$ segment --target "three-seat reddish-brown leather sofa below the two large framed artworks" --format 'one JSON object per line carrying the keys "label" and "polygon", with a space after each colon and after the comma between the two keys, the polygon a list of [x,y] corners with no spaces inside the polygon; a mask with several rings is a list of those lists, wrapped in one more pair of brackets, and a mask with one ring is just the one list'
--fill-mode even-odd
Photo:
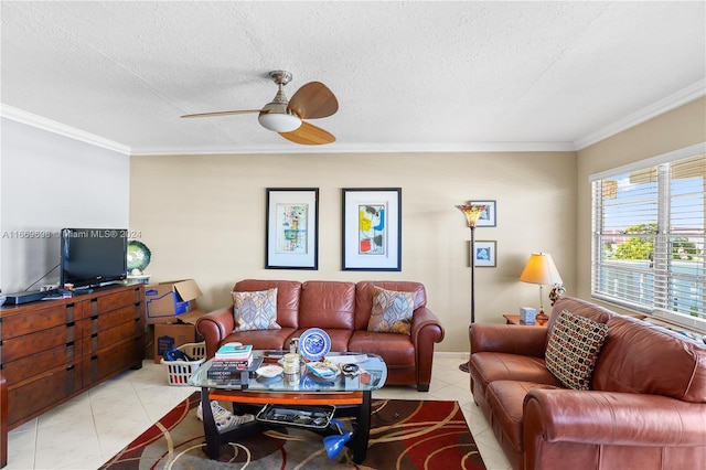
{"label": "three-seat reddish-brown leather sofa below the two large framed artworks", "polygon": [[[374,286],[387,290],[414,292],[411,334],[367,331],[373,307]],[[239,341],[261,350],[288,350],[289,341],[308,328],[321,328],[331,338],[332,351],[377,354],[387,364],[387,384],[416,385],[427,392],[431,382],[434,344],[443,340],[443,328],[426,307],[424,285],[408,281],[293,281],[246,279],[234,291],[277,288],[279,330],[234,332],[233,306],[210,312],[196,322],[196,331],[206,342],[212,357],[225,342]]]}

